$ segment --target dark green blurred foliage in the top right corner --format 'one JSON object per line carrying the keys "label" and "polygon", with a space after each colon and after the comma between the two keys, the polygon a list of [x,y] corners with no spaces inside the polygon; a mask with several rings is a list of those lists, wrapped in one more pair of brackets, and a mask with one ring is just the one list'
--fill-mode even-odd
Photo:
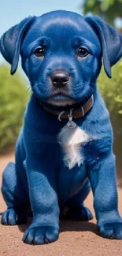
{"label": "dark green blurred foliage in the top right corner", "polygon": [[81,6],[83,14],[97,14],[112,25],[116,17],[122,17],[122,0],[85,0]]}

